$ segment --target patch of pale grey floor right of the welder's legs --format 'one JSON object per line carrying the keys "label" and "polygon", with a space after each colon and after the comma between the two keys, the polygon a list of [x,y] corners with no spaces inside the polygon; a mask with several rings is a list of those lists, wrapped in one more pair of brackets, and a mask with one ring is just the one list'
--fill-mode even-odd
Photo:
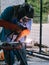
{"label": "patch of pale grey floor right of the welder's legs", "polygon": [[29,58],[28,65],[49,65],[49,61],[37,57]]}

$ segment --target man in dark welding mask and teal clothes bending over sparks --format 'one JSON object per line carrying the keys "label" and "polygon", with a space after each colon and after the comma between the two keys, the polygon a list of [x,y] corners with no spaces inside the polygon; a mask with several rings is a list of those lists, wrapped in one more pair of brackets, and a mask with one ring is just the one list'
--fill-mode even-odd
{"label": "man in dark welding mask and teal clothes bending over sparks", "polygon": [[[2,36],[1,41],[2,42],[21,42],[23,45],[23,48],[20,50],[11,50],[10,51],[10,65],[14,64],[14,55],[16,55],[18,61],[20,61],[20,65],[28,65],[27,59],[26,59],[26,51],[24,48],[24,40],[26,39],[27,34],[30,33],[31,29],[31,18],[33,18],[34,9],[31,5],[24,3],[19,6],[10,6],[7,7],[4,12],[1,14],[1,19],[5,21],[10,21],[13,24],[18,24],[20,27],[22,26],[26,30],[20,32],[20,33],[11,33],[11,31],[7,30],[5,28],[2,29]],[[22,59],[20,58],[20,53],[22,55],[22,58],[24,59],[22,62]],[[8,51],[4,50],[4,56],[5,56],[5,62],[7,65],[9,65],[9,55]]]}

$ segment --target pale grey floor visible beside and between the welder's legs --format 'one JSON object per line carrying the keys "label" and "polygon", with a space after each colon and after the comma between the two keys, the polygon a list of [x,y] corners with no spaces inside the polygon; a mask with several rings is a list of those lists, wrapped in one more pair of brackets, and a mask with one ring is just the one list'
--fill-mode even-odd
{"label": "pale grey floor visible beside and between the welder's legs", "polygon": [[[49,61],[37,57],[27,56],[28,65],[49,65]],[[0,65],[5,65],[5,62],[0,62]],[[19,65],[16,61],[14,65]]]}

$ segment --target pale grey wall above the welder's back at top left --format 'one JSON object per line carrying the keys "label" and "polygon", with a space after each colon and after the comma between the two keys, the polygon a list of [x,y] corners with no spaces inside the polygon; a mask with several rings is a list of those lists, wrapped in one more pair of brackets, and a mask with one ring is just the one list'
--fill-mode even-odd
{"label": "pale grey wall above the welder's back at top left", "polygon": [[1,12],[8,6],[19,5],[24,2],[25,0],[1,0]]}

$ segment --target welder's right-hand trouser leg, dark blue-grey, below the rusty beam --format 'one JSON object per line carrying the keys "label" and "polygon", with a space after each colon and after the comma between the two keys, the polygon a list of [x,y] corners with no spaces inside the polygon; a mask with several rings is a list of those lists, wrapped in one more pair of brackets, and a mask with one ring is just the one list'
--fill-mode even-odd
{"label": "welder's right-hand trouser leg, dark blue-grey, below the rusty beam", "polygon": [[20,50],[14,50],[14,54],[16,55],[18,61],[20,60],[20,65],[28,65],[26,58],[26,50],[22,47]]}

